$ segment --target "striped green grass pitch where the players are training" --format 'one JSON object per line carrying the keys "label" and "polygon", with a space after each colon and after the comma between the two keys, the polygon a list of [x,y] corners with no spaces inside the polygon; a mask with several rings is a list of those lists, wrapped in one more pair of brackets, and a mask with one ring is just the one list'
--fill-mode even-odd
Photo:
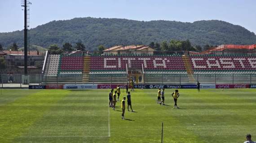
{"label": "striped green grass pitch where the players are training", "polygon": [[[0,95],[0,143],[243,143],[256,140],[256,90],[181,89],[172,109],[156,104],[157,89],[132,92],[135,113],[121,119],[108,107],[109,90],[4,89]],[[121,97],[125,94],[121,93]]]}

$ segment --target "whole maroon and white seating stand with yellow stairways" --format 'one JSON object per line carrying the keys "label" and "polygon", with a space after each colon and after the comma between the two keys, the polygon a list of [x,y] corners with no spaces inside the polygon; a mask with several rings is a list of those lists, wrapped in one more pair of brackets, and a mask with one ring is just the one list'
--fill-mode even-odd
{"label": "whole maroon and white seating stand with yellow stairways", "polygon": [[[147,83],[163,79],[195,83],[199,76],[207,83],[212,74],[256,74],[255,55],[49,55],[48,59],[44,75],[52,80],[56,76],[63,83],[125,83],[131,76],[129,71],[143,72]],[[231,76],[234,79],[237,75]]]}

